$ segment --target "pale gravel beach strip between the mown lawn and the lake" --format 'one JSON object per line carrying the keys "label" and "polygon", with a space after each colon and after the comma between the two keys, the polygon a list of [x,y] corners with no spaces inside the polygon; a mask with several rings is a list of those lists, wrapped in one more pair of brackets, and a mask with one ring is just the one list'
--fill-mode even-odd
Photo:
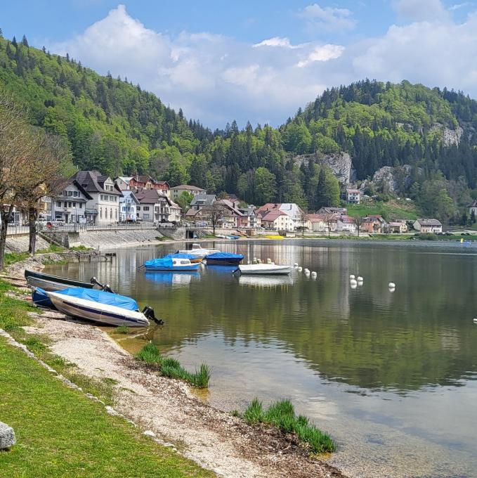
{"label": "pale gravel beach strip between the mown lawn and the lake", "polygon": [[[14,285],[25,283],[25,266],[36,264],[43,269],[42,259],[12,264],[7,273],[17,277]],[[247,425],[203,403],[188,385],[161,377],[154,368],[135,361],[97,325],[68,321],[58,313],[30,315],[37,323],[25,327],[27,333],[46,337],[51,351],[74,363],[79,373],[115,380],[115,409],[202,467],[230,478],[345,477],[332,465],[309,456],[293,437],[271,427]]]}

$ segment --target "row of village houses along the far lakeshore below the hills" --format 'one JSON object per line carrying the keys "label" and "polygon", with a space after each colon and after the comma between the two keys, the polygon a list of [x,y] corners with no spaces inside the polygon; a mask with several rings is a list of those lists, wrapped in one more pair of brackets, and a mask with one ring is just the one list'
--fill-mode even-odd
{"label": "row of village houses along the far lakeshore below the hills", "polygon": [[[60,181],[60,180],[59,180]],[[72,224],[113,226],[148,224],[150,226],[193,226],[246,230],[247,235],[275,231],[285,236],[370,235],[405,233],[443,233],[437,219],[393,219],[380,214],[362,217],[348,215],[343,207],[321,207],[303,211],[295,203],[247,205],[236,195],[209,194],[198,186],[170,186],[151,176],[110,178],[96,171],[79,171],[61,180],[60,192],[39,201],[39,226],[65,228]],[[358,189],[346,189],[342,202],[360,204]],[[15,205],[9,226],[27,226],[27,212]]]}

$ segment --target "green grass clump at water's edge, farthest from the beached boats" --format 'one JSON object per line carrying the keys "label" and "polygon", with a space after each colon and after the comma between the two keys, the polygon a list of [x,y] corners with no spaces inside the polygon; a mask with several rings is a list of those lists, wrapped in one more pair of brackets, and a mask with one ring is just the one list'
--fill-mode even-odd
{"label": "green grass clump at water's edge, farthest from the beached boats", "polygon": [[266,410],[255,398],[242,415],[250,424],[266,423],[287,434],[296,434],[300,441],[313,453],[327,453],[336,450],[336,444],[329,434],[311,425],[304,415],[295,415],[295,409],[288,399],[275,401]]}

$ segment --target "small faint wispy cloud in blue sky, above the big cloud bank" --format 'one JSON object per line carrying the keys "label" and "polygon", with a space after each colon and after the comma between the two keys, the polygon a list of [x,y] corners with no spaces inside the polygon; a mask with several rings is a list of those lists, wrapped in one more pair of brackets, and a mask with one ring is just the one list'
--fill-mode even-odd
{"label": "small faint wispy cloud in blue sky, above the big cloud bank", "polygon": [[308,5],[299,13],[313,30],[339,31],[353,30],[356,20],[348,8],[322,7],[318,4]]}

